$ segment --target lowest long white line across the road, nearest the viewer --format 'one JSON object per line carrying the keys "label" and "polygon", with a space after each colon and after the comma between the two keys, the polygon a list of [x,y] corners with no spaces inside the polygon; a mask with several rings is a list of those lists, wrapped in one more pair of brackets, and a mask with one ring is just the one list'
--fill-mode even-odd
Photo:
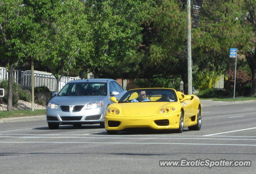
{"label": "lowest long white line across the road, nearest the viewer", "polygon": [[62,144],[183,144],[183,145],[213,145],[213,146],[256,146],[256,144],[206,144],[206,143],[175,143],[175,142],[47,142],[47,141],[1,141],[0,143],[62,143]]}

